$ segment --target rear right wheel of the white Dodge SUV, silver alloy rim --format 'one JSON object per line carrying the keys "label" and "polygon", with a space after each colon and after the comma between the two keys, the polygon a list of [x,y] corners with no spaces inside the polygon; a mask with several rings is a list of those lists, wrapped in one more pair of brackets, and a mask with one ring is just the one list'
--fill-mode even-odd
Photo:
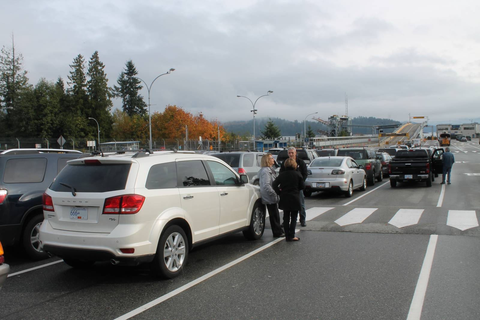
{"label": "rear right wheel of the white Dodge SUV, silver alloy rim", "polygon": [[162,278],[175,278],[183,272],[188,259],[188,238],[178,225],[170,225],[160,236],[152,271]]}

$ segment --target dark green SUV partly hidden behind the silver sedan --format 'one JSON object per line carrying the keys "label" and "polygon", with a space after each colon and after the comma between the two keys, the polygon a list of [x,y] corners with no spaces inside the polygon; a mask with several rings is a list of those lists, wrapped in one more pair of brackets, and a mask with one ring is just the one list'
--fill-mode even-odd
{"label": "dark green SUV partly hidden behind the silver sedan", "polygon": [[367,182],[371,186],[375,184],[375,179],[379,182],[383,180],[382,163],[377,159],[375,149],[372,147],[342,148],[336,155],[352,157],[357,164],[363,166],[362,169],[367,174]]}

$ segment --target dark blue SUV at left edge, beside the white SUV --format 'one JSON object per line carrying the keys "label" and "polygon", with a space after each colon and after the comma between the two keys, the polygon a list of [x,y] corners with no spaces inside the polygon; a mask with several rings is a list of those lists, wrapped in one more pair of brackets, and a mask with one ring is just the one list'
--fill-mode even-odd
{"label": "dark blue SUV at left edge, beside the white SUV", "polygon": [[68,160],[83,154],[51,150],[17,149],[0,154],[0,242],[4,246],[20,244],[34,260],[47,258],[38,241],[42,194]]}

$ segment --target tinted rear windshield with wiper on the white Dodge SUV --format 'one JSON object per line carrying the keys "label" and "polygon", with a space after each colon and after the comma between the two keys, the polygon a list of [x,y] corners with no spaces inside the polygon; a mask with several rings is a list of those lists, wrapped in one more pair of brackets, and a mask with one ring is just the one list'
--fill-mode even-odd
{"label": "tinted rear windshield with wiper on the white Dodge SUV", "polygon": [[50,186],[53,191],[71,192],[60,182],[77,192],[108,192],[125,189],[131,164],[103,164],[98,166],[67,165]]}

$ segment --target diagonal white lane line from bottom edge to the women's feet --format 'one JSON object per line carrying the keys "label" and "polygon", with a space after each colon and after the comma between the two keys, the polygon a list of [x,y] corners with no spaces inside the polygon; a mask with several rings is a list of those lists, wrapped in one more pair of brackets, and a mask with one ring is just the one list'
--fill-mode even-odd
{"label": "diagonal white lane line from bottom edge to the women's feet", "polygon": [[226,265],[224,265],[224,266],[222,266],[222,267],[220,267],[220,268],[218,268],[218,269],[215,269],[215,270],[212,271],[212,272],[209,272],[209,273],[207,273],[207,274],[204,274],[203,276],[201,276],[200,278],[197,278],[197,279],[193,280],[192,282],[189,282],[188,284],[182,285],[180,288],[175,289],[175,290],[169,292],[168,294],[165,294],[165,295],[163,295],[163,296],[160,296],[160,297],[156,298],[155,300],[152,300],[152,301],[144,304],[144,305],[141,306],[141,307],[138,307],[138,308],[136,308],[136,309],[134,309],[134,310],[132,310],[132,311],[130,311],[130,312],[128,312],[128,313],[125,313],[123,316],[120,316],[120,317],[116,318],[115,320],[126,320],[126,319],[130,319],[131,317],[133,317],[133,316],[135,316],[135,315],[137,315],[137,314],[139,314],[139,313],[141,313],[141,312],[143,312],[143,311],[145,311],[145,310],[147,310],[147,309],[149,309],[149,308],[155,307],[157,304],[159,304],[159,303],[161,303],[161,302],[163,302],[163,301],[165,301],[165,300],[167,300],[167,299],[169,299],[169,298],[171,298],[171,297],[173,297],[173,296],[178,295],[179,293],[181,293],[181,292],[183,292],[183,291],[191,288],[192,286],[201,283],[202,281],[204,281],[204,280],[206,280],[206,279],[208,279],[208,278],[216,275],[217,273],[220,273],[220,272],[222,272],[222,271],[230,268],[231,266],[233,266],[233,265],[235,265],[235,264],[237,264],[237,263],[239,263],[239,262],[241,262],[241,261],[243,261],[243,260],[245,260],[245,259],[247,259],[247,258],[252,257],[253,255],[259,253],[260,251],[262,251],[262,250],[264,250],[264,249],[267,249],[268,247],[270,247],[270,246],[272,246],[272,245],[274,245],[274,244],[276,244],[277,242],[282,241],[282,240],[285,240],[285,238],[275,239],[275,240],[273,240],[272,242],[269,242],[269,243],[267,243],[266,245],[264,245],[264,246],[262,246],[262,247],[260,247],[260,248],[258,248],[258,249],[255,249],[255,250],[253,250],[253,251],[250,252],[250,253],[247,253],[246,255],[240,257],[240,258],[237,259],[237,260],[231,261],[231,262],[227,263]]}

